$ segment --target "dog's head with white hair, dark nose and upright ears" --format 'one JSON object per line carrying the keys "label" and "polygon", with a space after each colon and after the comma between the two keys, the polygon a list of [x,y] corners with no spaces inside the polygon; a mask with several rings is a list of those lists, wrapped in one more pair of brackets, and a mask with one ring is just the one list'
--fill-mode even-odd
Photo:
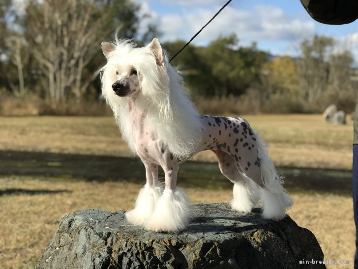
{"label": "dog's head with white hair, dark nose and upright ears", "polygon": [[102,86],[107,87],[103,87],[106,98],[110,95],[137,97],[141,92],[146,94],[143,84],[161,80],[158,68],[164,67],[163,51],[157,38],[143,48],[136,48],[130,40],[102,42],[101,47],[108,59],[102,73],[102,84],[105,84]]}

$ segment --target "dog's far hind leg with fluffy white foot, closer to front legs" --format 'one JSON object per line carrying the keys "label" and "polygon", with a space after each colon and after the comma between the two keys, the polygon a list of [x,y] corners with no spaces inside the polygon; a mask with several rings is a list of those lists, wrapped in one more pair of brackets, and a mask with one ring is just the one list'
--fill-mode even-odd
{"label": "dog's far hind leg with fluffy white foot, closer to front legs", "polygon": [[250,212],[252,206],[259,200],[257,185],[238,169],[238,164],[228,153],[213,150],[219,160],[219,168],[231,182],[234,183],[234,199],[231,207],[240,212]]}

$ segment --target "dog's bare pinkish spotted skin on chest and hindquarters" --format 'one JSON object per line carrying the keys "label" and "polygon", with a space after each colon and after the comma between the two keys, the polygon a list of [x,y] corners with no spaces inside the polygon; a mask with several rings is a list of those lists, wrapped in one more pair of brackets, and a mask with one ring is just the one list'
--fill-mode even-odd
{"label": "dog's bare pinkish spotted skin on chest and hindquarters", "polygon": [[[149,184],[157,185],[158,166],[165,172],[166,187],[175,189],[179,163],[178,160],[155,134],[150,126],[145,126],[145,111],[139,111],[133,105],[135,99],[129,101],[132,116],[133,136],[136,150],[145,164]],[[203,136],[194,154],[213,151],[218,160],[221,172],[233,183],[241,180],[241,170],[258,185],[262,185],[260,160],[257,151],[255,133],[247,121],[240,117],[217,117],[202,115]],[[194,155],[193,154],[193,155]]]}

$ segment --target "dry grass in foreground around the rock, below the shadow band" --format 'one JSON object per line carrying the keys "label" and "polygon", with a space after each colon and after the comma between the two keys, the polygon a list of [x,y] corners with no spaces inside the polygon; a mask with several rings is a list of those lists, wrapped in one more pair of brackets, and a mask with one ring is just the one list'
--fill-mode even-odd
{"label": "dry grass in foreground around the rock, below the shadow band", "polygon": [[[123,182],[1,178],[1,268],[33,268],[55,233],[62,215],[85,208],[128,210],[133,207],[140,188],[141,185]],[[186,191],[193,203],[229,202],[232,199],[229,190]],[[316,235],[325,259],[348,260],[351,265],[339,268],[352,268],[355,229],[351,199],[318,194],[293,194],[292,197],[295,205],[288,210],[288,214],[299,226]]]}

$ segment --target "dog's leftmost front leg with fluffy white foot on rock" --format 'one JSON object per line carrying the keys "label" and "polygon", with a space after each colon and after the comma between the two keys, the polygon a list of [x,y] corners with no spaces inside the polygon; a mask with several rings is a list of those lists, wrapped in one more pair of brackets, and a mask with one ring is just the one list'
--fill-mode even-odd
{"label": "dog's leftmost front leg with fluffy white foot on rock", "polygon": [[158,186],[158,166],[152,163],[144,165],[147,183],[139,191],[134,209],[125,213],[127,220],[134,225],[143,225],[148,221],[162,193]]}

